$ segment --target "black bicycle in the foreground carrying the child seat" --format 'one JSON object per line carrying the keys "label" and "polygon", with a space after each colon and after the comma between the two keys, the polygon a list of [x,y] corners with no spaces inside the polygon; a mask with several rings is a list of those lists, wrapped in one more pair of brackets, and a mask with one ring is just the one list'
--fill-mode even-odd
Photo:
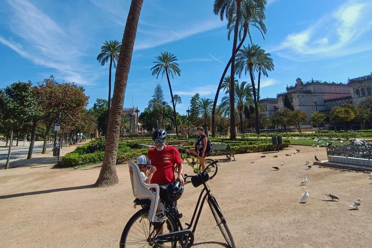
{"label": "black bicycle in the foreground carrying the child seat", "polygon": [[[217,161],[214,161],[213,163],[216,164]],[[207,168],[210,166],[212,166],[212,164],[209,164]],[[134,207],[136,208],[137,205],[140,205],[142,209],[135,213],[126,223],[120,239],[120,248],[191,247],[194,243],[195,229],[205,200],[208,202],[212,214],[215,217],[217,226],[225,238],[229,248],[235,248],[233,236],[227,226],[226,219],[218,206],[216,198],[212,195],[211,190],[206,183],[209,180],[208,173],[206,172],[207,168],[202,172],[198,172],[198,175],[196,176],[189,176],[191,177],[191,182],[194,187],[203,185],[204,188],[200,193],[190,224],[185,223],[187,226],[186,229],[182,227],[180,221],[182,214],[178,212],[177,201],[170,202],[167,198],[162,199],[168,219],[164,222],[151,222],[147,218],[151,201],[148,199],[136,199],[134,200]],[[195,224],[193,225],[194,220]],[[160,230],[162,231],[162,234],[159,233]]]}

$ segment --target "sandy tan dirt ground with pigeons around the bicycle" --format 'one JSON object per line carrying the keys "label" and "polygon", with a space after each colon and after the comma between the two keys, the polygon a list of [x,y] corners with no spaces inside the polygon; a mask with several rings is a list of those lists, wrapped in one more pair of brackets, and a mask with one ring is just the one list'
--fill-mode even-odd
{"label": "sandy tan dirt ground with pigeons around the bicycle", "polygon": [[[295,149],[302,151],[294,154]],[[62,149],[62,154],[68,150]],[[325,148],[292,146],[279,153],[235,155],[237,161],[221,163],[208,184],[236,247],[370,247],[372,180],[362,172],[308,169],[305,161],[312,164],[314,155],[325,160]],[[118,185],[94,188],[99,164],[52,169],[50,153],[35,157],[0,171],[0,247],[119,247],[126,222],[139,209],[133,208],[128,166],[116,167]],[[186,173],[192,174],[184,165]],[[308,185],[300,186],[305,176]],[[178,201],[183,222],[190,221],[201,189],[186,184]],[[305,190],[310,198],[301,204]],[[325,193],[338,196],[340,202],[330,201]],[[358,198],[359,210],[350,210],[350,203]],[[224,243],[205,205],[193,247],[226,247]]]}

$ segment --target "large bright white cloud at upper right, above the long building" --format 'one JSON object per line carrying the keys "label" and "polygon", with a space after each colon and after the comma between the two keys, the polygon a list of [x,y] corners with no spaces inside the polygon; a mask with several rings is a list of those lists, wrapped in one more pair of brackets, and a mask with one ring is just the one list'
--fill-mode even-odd
{"label": "large bright white cloud at upper right, above the long building", "polygon": [[298,61],[336,58],[372,49],[365,38],[372,31],[372,2],[349,0],[331,15],[323,16],[303,31],[288,34],[271,49]]}

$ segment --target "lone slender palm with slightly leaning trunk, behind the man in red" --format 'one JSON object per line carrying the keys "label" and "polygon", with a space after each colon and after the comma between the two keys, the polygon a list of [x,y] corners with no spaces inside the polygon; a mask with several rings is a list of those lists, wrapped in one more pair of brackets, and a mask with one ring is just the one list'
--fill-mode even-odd
{"label": "lone slender palm with slightly leaning trunk, behind the man in red", "polygon": [[164,52],[160,53],[160,56],[155,57],[157,61],[154,61],[155,66],[151,68],[153,71],[151,75],[155,76],[156,79],[159,77],[161,73],[161,78],[163,78],[164,74],[167,75],[168,85],[169,85],[169,91],[171,92],[171,98],[172,98],[172,104],[173,104],[173,117],[174,117],[174,125],[176,127],[176,134],[178,138],[178,126],[177,126],[177,116],[176,116],[176,104],[173,99],[173,93],[172,93],[172,87],[171,87],[171,81],[169,80],[169,74],[171,74],[172,78],[173,73],[177,74],[178,76],[181,76],[181,70],[178,68],[177,57],[171,54],[170,52]]}

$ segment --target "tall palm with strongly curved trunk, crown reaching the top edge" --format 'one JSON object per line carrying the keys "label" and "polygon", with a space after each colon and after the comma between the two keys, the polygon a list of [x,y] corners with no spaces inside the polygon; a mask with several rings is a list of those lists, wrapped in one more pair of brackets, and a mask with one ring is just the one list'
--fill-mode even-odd
{"label": "tall palm with strongly curved trunk, crown reaching the top edge", "polygon": [[[216,0],[217,1],[217,0]],[[252,39],[250,36],[249,32],[249,25],[253,25],[256,27],[261,34],[266,34],[266,26],[263,24],[263,20],[266,19],[264,15],[264,10],[265,10],[265,5],[267,1],[266,0],[244,0],[243,1],[243,6],[242,6],[242,16],[241,16],[241,28],[239,30],[239,38],[241,38],[241,31],[243,28],[243,38],[241,39],[241,42],[238,47],[235,49],[235,54],[239,51],[240,47],[242,46],[243,42],[246,39],[247,33],[249,34],[250,41],[252,43]],[[216,4],[216,2],[215,2]],[[234,9],[234,5],[232,5],[232,8],[230,10],[230,15],[226,13],[226,17],[229,16],[228,18],[228,25],[227,28],[229,30],[228,32],[228,40],[230,40],[230,34],[231,32],[236,28],[236,9]],[[215,12],[216,14],[216,12]],[[221,20],[223,19],[223,12],[221,12],[222,15],[220,15]],[[235,15],[234,15],[235,14]],[[238,18],[240,20],[240,18]],[[233,25],[235,23],[235,25]],[[237,30],[236,30],[237,31]],[[235,35],[235,32],[234,32]],[[263,37],[264,39],[264,37]],[[222,77],[219,81],[218,87],[217,87],[217,93],[215,96],[214,104],[213,104],[213,109],[212,109],[212,137],[215,136],[215,111],[216,111],[216,106],[217,106],[217,99],[218,99],[218,94],[221,89],[221,84],[223,78],[225,78],[225,75],[227,73],[228,68],[230,67],[230,64],[233,62],[233,57],[231,57],[230,61],[227,63],[225,70],[222,74]]]}

